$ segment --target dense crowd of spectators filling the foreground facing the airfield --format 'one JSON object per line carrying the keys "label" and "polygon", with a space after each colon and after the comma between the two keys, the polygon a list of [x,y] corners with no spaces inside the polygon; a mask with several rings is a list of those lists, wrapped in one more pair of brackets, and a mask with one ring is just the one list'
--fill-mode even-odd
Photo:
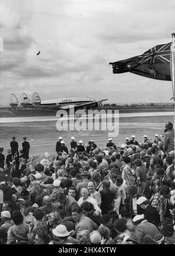
{"label": "dense crowd of spectators filling the foreground facing the airfield", "polygon": [[[0,149],[0,244],[175,244],[174,130],[104,147],[58,138],[52,160]],[[6,162],[6,164],[5,164]]]}

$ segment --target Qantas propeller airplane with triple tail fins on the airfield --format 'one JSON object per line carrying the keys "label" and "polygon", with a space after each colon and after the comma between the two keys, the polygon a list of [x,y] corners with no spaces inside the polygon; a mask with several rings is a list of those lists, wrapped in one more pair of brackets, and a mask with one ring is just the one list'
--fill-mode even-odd
{"label": "Qantas propeller airplane with triple tail fins on the airfield", "polygon": [[96,101],[91,98],[62,98],[62,99],[50,99],[46,101],[41,101],[40,96],[37,92],[34,92],[31,101],[24,92],[20,98],[20,103],[16,98],[15,94],[10,95],[9,105],[10,107],[16,108],[41,108],[41,109],[96,109],[101,106],[103,101],[107,99],[101,99]]}

